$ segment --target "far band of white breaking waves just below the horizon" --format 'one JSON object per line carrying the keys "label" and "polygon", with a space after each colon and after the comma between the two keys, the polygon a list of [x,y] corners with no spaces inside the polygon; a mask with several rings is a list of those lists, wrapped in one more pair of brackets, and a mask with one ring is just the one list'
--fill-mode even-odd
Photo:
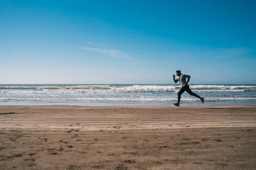
{"label": "far band of white breaking waves just below the horizon", "polygon": [[[190,85],[194,92],[256,91],[250,85]],[[172,93],[180,85],[0,85],[0,93]]]}

